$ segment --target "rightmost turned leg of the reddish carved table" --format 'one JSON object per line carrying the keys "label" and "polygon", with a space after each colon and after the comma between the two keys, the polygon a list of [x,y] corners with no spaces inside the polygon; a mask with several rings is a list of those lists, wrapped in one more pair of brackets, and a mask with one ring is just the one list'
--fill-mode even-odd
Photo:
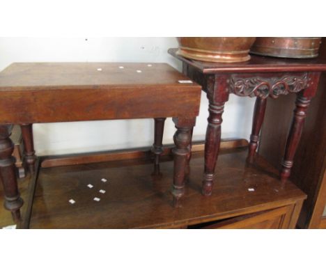
{"label": "rightmost turned leg of the reddish carved table", "polygon": [[293,166],[293,158],[297,145],[299,144],[302,129],[304,126],[304,118],[306,118],[306,110],[310,104],[310,98],[303,97],[301,94],[297,94],[297,100],[295,102],[294,116],[286,141],[286,150],[284,159],[281,163],[281,180],[285,181],[289,178],[291,168]]}

